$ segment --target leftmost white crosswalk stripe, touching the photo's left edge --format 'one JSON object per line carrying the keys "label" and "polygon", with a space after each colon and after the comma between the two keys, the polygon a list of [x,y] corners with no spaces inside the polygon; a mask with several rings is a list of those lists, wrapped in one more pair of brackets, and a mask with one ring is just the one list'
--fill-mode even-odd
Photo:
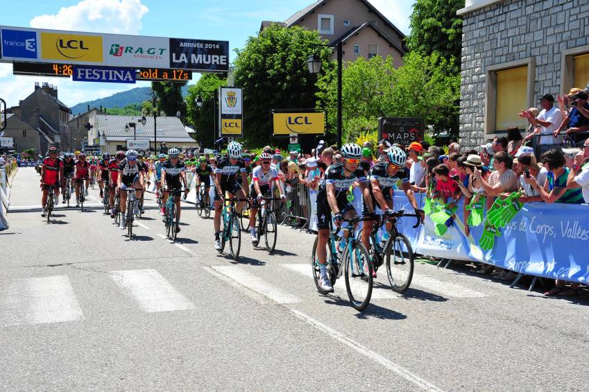
{"label": "leftmost white crosswalk stripe, touching the photo's left edge", "polygon": [[84,318],[67,275],[17,279],[0,291],[6,325],[64,323]]}

